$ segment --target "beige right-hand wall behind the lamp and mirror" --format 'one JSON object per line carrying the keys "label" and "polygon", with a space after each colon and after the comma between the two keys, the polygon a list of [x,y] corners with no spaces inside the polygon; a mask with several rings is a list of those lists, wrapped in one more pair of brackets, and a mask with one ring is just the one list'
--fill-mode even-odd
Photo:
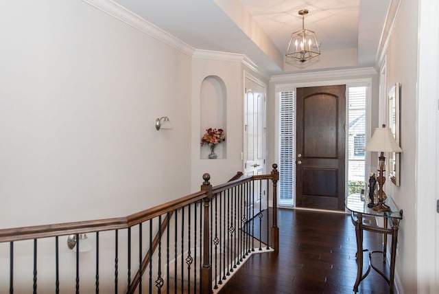
{"label": "beige right-hand wall behind the lamp and mirror", "polygon": [[[386,193],[392,195],[403,210],[399,231],[399,255],[396,271],[404,293],[416,293],[416,78],[418,1],[401,1],[392,37],[387,49],[386,92],[401,84],[401,185],[387,184]],[[407,36],[413,42],[407,41]],[[412,58],[411,58],[412,57]]]}

